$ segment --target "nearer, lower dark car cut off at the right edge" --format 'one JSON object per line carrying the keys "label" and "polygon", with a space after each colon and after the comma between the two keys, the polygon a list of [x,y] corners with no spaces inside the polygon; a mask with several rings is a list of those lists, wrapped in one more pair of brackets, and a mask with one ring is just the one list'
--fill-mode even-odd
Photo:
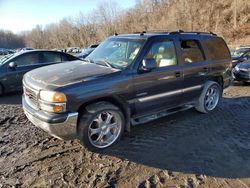
{"label": "nearer, lower dark car cut off at the right edge", "polygon": [[232,75],[233,75],[234,80],[249,83],[250,82],[250,60],[237,64],[232,71]]}

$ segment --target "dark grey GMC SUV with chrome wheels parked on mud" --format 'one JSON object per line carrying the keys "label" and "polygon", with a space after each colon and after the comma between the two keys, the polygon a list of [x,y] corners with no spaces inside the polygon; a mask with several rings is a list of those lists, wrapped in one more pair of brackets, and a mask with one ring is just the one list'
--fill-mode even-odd
{"label": "dark grey GMC SUV with chrome wheels parked on mud", "polygon": [[230,80],[229,49],[213,33],[115,35],[85,62],[27,73],[23,108],[51,135],[103,149],[130,125],[192,107],[214,110]]}

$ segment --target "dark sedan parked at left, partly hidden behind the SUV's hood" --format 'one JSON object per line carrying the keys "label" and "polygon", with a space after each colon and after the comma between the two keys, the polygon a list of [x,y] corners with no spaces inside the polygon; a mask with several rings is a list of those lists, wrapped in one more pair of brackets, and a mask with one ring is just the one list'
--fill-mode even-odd
{"label": "dark sedan parked at left, partly hidden behind the SUV's hood", "polygon": [[6,55],[0,59],[0,95],[21,90],[23,75],[30,70],[73,60],[79,58],[50,50],[28,50]]}

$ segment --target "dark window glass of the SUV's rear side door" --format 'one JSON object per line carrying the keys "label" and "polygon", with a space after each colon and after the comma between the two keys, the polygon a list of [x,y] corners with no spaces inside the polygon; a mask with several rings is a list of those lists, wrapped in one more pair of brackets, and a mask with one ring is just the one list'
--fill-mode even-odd
{"label": "dark window glass of the SUV's rear side door", "polygon": [[182,59],[184,63],[204,61],[204,55],[198,40],[182,40]]}

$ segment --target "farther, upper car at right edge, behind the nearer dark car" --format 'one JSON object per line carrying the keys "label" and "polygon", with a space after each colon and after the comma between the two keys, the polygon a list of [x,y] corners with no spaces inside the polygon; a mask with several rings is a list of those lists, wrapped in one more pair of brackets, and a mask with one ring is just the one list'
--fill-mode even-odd
{"label": "farther, upper car at right edge, behind the nearer dark car", "polygon": [[235,67],[238,63],[250,59],[250,48],[240,47],[232,53],[232,65]]}

